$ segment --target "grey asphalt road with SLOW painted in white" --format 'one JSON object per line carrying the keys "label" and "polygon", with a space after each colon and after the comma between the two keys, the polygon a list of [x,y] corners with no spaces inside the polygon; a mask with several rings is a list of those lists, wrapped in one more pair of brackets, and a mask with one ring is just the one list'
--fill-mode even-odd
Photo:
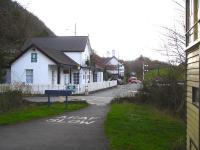
{"label": "grey asphalt road with SLOW painted in white", "polygon": [[135,86],[119,86],[84,96],[88,108],[56,117],[0,126],[0,150],[107,150],[103,123],[113,97]]}

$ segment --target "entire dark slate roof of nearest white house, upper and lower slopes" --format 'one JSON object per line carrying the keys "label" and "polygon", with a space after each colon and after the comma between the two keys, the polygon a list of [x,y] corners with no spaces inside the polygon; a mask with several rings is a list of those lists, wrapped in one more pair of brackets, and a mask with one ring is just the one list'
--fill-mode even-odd
{"label": "entire dark slate roof of nearest white house, upper and lower slopes", "polygon": [[64,52],[84,52],[87,42],[89,42],[87,36],[31,38],[22,47],[22,53],[10,64],[21,57],[31,47],[36,47],[57,64],[77,66],[78,64],[66,56]]}

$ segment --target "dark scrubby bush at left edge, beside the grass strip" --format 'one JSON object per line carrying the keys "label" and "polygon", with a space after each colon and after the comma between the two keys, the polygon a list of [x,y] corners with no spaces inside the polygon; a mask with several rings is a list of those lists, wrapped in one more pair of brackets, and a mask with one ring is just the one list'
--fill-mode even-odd
{"label": "dark scrubby bush at left edge, beside the grass strip", "polygon": [[23,103],[21,91],[7,91],[0,95],[0,112],[17,108]]}

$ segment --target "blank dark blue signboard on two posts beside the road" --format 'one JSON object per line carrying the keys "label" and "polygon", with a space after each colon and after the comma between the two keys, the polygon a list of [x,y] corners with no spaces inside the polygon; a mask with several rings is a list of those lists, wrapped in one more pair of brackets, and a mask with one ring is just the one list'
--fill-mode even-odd
{"label": "blank dark blue signboard on two posts beside the road", "polygon": [[48,105],[51,104],[50,96],[65,96],[65,104],[67,104],[67,96],[71,95],[72,91],[67,90],[45,90],[45,95],[48,96]]}

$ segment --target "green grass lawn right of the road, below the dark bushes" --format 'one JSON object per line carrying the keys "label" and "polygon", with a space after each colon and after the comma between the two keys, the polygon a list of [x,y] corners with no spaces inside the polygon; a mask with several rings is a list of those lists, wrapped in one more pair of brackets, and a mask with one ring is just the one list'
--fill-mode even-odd
{"label": "green grass lawn right of the road, below the dark bushes", "polygon": [[132,103],[111,106],[105,132],[111,150],[170,150],[175,142],[185,140],[181,120],[151,106]]}

